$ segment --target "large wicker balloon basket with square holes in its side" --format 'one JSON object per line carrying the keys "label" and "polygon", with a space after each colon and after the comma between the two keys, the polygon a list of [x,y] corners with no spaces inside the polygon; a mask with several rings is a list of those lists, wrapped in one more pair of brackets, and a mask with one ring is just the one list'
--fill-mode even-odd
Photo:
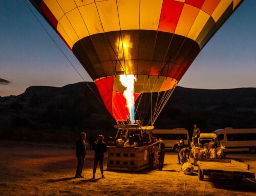
{"label": "large wicker balloon basket with square holes in its side", "polygon": [[140,171],[150,167],[153,147],[115,147],[108,146],[108,170]]}

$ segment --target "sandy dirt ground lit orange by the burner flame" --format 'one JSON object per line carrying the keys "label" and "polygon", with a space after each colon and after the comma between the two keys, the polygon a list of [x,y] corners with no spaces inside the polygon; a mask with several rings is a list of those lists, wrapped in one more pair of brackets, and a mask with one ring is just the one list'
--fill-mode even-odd
{"label": "sandy dirt ground lit orange by the burner flame", "polygon": [[[93,151],[88,150],[82,175],[75,179],[77,160],[73,146],[0,141],[0,195],[256,195],[255,179],[206,179],[199,181],[198,168],[185,175],[177,165],[177,154],[166,153],[162,171],[145,169],[136,173],[106,170],[105,179],[92,179]],[[229,154],[256,169],[256,156]]]}

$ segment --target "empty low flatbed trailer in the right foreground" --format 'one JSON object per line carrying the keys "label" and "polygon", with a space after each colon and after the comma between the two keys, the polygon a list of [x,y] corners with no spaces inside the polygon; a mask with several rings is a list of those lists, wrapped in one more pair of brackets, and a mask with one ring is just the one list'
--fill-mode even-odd
{"label": "empty low flatbed trailer in the right foreground", "polygon": [[249,165],[235,161],[232,159],[222,160],[204,160],[197,161],[198,164],[198,177],[203,180],[205,176],[220,177],[220,178],[255,178],[253,172],[249,170]]}

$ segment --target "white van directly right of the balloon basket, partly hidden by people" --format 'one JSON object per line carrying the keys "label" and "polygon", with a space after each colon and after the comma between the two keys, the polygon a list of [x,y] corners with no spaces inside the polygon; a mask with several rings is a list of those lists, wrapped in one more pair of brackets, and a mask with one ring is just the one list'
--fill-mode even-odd
{"label": "white van directly right of the balloon basket, partly hidden by people", "polygon": [[162,138],[166,150],[176,151],[176,141],[184,140],[185,146],[188,146],[188,131],[185,128],[174,129],[153,129],[155,138]]}

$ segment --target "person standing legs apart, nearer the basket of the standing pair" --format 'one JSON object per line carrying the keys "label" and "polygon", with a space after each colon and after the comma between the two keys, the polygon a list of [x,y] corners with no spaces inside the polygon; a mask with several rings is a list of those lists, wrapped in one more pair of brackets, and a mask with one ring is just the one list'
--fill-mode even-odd
{"label": "person standing legs apart, nearer the basket of the standing pair", "polygon": [[106,152],[106,144],[103,142],[104,137],[99,135],[97,141],[95,141],[93,145],[93,149],[95,150],[94,154],[94,165],[93,165],[93,179],[95,179],[96,168],[99,162],[101,178],[105,178],[103,175],[103,159],[104,153]]}

